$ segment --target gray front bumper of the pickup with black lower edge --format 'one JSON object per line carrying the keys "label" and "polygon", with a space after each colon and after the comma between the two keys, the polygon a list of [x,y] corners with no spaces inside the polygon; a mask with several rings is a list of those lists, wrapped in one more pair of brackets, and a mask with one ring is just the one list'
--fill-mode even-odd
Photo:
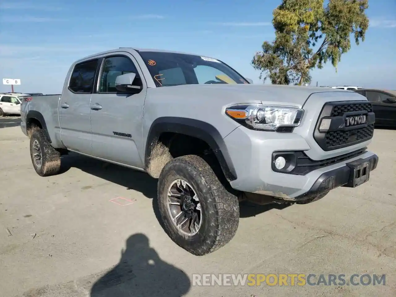
{"label": "gray front bumper of the pickup with black lower edge", "polygon": [[[299,174],[281,173],[273,169],[274,152],[310,150],[303,137],[295,133],[249,130],[239,127],[224,139],[237,179],[232,188],[286,200],[305,200],[337,187],[356,187],[369,178],[377,167],[378,156],[361,150],[332,160],[319,160],[318,166],[304,168]],[[345,153],[344,153],[345,154]],[[307,158],[307,157],[306,157]],[[316,162],[311,160],[312,162]]]}

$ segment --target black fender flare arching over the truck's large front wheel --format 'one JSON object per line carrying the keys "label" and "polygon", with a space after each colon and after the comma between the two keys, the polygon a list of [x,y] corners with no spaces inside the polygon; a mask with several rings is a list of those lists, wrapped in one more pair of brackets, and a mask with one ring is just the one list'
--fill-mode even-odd
{"label": "black fender flare arching over the truck's large front wheel", "polygon": [[154,144],[158,141],[161,133],[174,132],[196,137],[208,143],[213,150],[221,169],[228,181],[234,181],[237,178],[234,165],[230,155],[228,154],[227,146],[221,137],[219,131],[206,122],[179,117],[161,117],[152,122],[148,131],[147,142],[145,148],[145,166],[150,162],[150,155]]}

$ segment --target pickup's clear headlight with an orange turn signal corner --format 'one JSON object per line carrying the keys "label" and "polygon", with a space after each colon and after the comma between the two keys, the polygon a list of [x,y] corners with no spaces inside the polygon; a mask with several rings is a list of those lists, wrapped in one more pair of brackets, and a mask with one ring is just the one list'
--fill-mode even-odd
{"label": "pickup's clear headlight with an orange turn signal corner", "polygon": [[[291,132],[303,117],[304,110],[282,105],[233,105],[226,114],[251,129]],[[290,129],[284,129],[289,127]],[[279,129],[282,128],[282,129]]]}

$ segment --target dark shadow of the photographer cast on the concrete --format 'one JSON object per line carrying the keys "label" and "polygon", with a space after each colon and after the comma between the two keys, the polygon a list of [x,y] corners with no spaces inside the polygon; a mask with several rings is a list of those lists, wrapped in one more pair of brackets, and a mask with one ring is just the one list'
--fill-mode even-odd
{"label": "dark shadow of the photographer cast on the concrete", "polygon": [[91,287],[91,297],[184,296],[191,282],[182,270],[160,259],[148,238],[138,233],[126,241],[120,262]]}

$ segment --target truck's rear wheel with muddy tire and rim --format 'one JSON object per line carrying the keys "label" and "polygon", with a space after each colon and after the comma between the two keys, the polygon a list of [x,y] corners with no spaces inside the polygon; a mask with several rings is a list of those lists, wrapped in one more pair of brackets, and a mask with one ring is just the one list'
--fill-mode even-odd
{"label": "truck's rear wheel with muddy tire and rim", "polygon": [[35,129],[30,136],[30,158],[34,170],[40,176],[51,176],[61,169],[61,156],[49,143],[42,129]]}

